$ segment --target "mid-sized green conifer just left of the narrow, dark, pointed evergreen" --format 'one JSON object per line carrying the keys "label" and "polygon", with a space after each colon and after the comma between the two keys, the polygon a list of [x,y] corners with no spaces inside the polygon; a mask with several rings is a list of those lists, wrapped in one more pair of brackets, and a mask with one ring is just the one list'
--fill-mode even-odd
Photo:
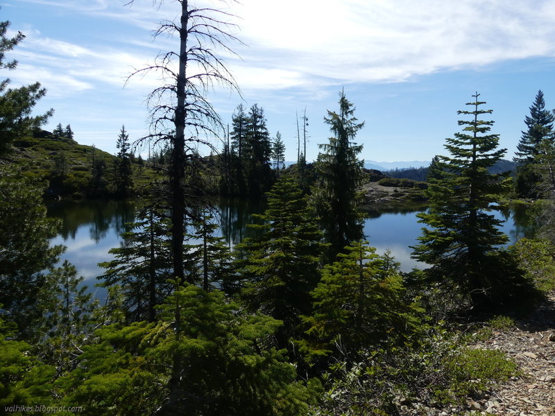
{"label": "mid-sized green conifer just left of the narrow, dark, pointed evergreen", "polygon": [[268,208],[256,216],[262,225],[250,225],[262,233],[239,245],[246,257],[239,261],[245,281],[239,297],[249,311],[284,322],[277,334],[278,347],[284,348],[301,334],[300,315],[309,312],[324,246],[293,178],[282,175],[267,196]]}

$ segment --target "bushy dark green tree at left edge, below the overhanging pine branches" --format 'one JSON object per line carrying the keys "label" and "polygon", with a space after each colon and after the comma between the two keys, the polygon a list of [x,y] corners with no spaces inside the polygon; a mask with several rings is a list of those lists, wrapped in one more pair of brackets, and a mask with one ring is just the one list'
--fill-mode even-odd
{"label": "bushy dark green tree at left edge, below the overhanging pine branches", "polygon": [[57,223],[46,218],[44,184],[21,171],[0,167],[0,303],[24,338],[33,336],[42,319],[40,292],[63,251],[51,246]]}

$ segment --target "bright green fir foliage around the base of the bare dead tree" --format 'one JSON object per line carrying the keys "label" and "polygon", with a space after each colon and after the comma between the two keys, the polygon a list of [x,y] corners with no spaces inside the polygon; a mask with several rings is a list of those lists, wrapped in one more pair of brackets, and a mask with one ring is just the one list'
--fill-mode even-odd
{"label": "bright green fir foliage around the base of the bare dead tree", "polygon": [[160,316],[99,329],[58,381],[65,401],[85,415],[306,414],[309,389],[282,352],[266,348],[280,322],[237,313],[219,291],[195,286],[176,288]]}

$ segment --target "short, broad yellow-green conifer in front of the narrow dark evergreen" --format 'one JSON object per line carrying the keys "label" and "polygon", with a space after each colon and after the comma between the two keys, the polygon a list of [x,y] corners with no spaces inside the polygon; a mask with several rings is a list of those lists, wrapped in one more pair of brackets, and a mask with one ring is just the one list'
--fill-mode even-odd
{"label": "short, broad yellow-green conifer in front of the narrow dark evergreen", "polygon": [[334,347],[352,359],[360,349],[402,344],[418,331],[420,309],[407,300],[399,264],[375,254],[367,241],[353,242],[326,265],[316,286],[314,312],[306,316],[311,355]]}

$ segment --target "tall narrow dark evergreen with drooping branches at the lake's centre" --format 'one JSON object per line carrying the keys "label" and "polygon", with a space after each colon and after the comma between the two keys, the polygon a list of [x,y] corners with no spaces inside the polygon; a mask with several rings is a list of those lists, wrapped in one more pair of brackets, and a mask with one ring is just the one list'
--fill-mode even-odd
{"label": "tall narrow dark evergreen with drooping branches at the lake's centre", "polygon": [[339,94],[339,112],[328,110],[325,123],[334,134],[330,143],[319,145],[325,153],[318,155],[316,170],[318,182],[314,187],[314,207],[329,243],[329,258],[350,243],[361,239],[362,218],[357,208],[360,196],[357,188],[361,185],[363,160],[357,155],[362,145],[353,140],[363,123],[353,115],[355,107],[348,101],[343,91]]}

